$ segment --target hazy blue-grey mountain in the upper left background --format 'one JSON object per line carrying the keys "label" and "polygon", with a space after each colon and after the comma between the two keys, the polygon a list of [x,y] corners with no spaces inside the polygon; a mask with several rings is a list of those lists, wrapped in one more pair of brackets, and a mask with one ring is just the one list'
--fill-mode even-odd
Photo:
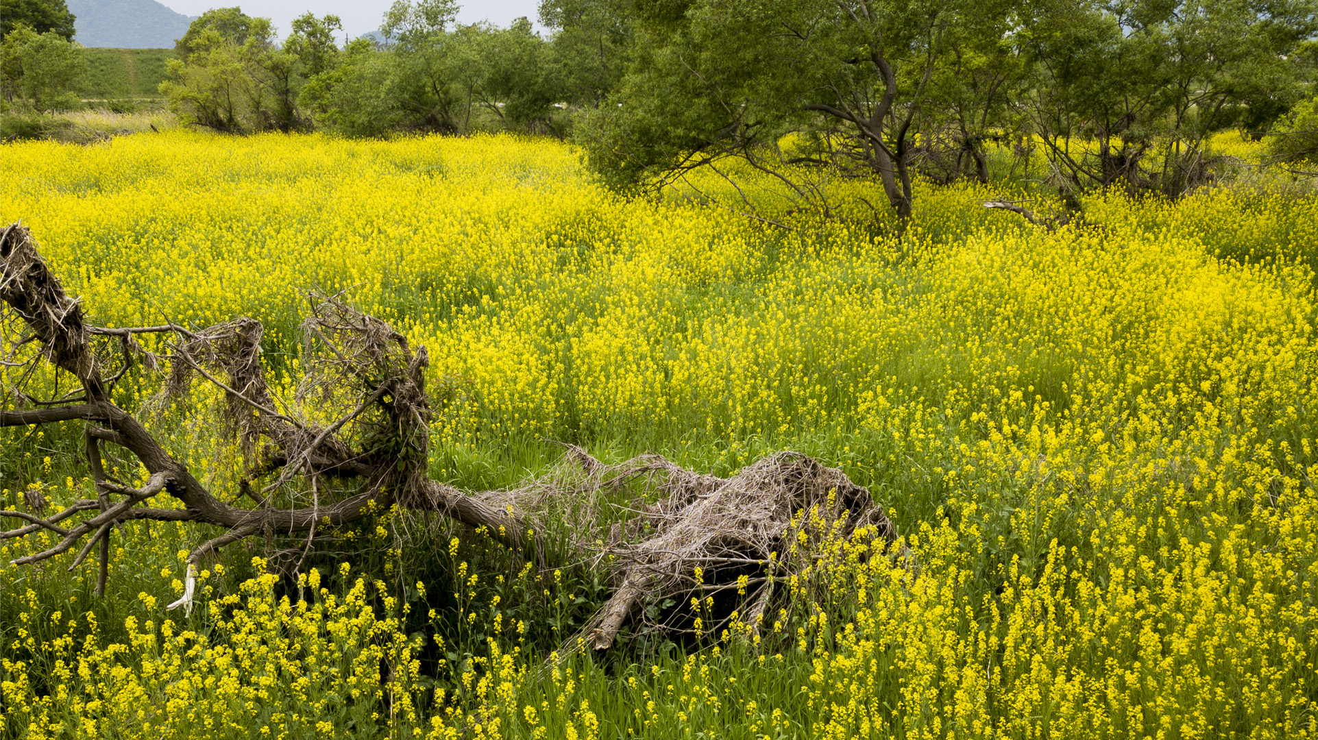
{"label": "hazy blue-grey mountain in the upper left background", "polygon": [[195,20],[156,0],[67,0],[74,41],[113,49],[173,49]]}

